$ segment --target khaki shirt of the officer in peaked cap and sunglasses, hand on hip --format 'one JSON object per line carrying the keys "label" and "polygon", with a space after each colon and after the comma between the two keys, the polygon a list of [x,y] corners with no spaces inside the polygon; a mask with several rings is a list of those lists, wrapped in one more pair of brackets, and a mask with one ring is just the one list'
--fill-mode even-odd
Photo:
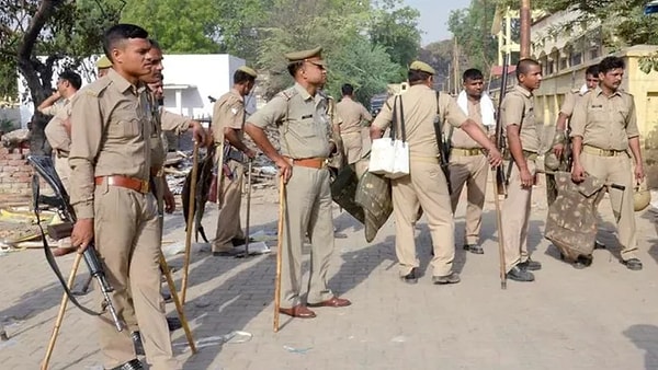
{"label": "khaki shirt of the officer in peaked cap and sunglasses, hand on hip", "polygon": [[264,128],[279,127],[281,153],[293,159],[328,158],[331,146],[331,123],[327,116],[327,97],[310,96],[300,84],[276,94],[249,122]]}

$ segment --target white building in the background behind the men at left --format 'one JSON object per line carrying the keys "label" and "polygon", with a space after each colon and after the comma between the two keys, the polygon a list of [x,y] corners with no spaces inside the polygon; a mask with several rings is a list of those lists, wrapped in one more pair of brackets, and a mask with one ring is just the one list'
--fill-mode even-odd
{"label": "white building in the background behind the men at left", "polygon": [[[90,82],[93,61],[99,57],[90,57],[78,71],[82,80]],[[213,103],[208,99],[219,99],[232,85],[232,74],[245,60],[227,54],[185,54],[164,55],[164,108],[192,118],[209,118],[213,114]],[[58,71],[53,73],[53,86],[57,81]],[[84,84],[84,83],[83,83]],[[33,115],[34,104],[26,91],[26,84],[19,79],[19,96],[21,96],[21,125],[26,126]],[[256,109],[254,100],[247,101],[247,111]]]}

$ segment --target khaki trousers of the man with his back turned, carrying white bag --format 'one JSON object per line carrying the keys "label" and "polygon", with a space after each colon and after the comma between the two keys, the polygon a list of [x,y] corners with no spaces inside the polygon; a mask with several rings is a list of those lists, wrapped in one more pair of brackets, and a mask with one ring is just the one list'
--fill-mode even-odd
{"label": "khaki trousers of the man with his back turned, carrying white bag", "polygon": [[455,223],[450,207],[447,184],[438,159],[411,158],[410,174],[390,181],[393,185],[393,213],[395,217],[395,253],[400,276],[419,266],[416,256],[413,230],[419,207],[428,219],[434,248],[431,265],[434,276],[452,273],[455,257]]}

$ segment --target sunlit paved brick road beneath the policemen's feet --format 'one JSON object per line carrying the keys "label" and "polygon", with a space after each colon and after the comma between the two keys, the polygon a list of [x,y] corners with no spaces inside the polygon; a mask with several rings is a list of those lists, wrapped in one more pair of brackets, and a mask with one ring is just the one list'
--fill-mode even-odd
{"label": "sunlit paved brick road beneath the policemen's feet", "polygon": [[[253,231],[275,233],[275,197],[274,189],[253,193]],[[538,186],[530,248],[544,268],[535,282],[510,281],[504,291],[491,199],[484,220],[485,254],[457,248],[462,282],[455,286],[431,284],[424,221],[417,242],[427,275],[407,286],[397,278],[393,221],[367,244],[362,229],[337,209],[336,226],[348,238],[336,240],[330,286],[353,305],[317,309],[315,320],[281,316],[284,326],[277,334],[272,333],[275,255],[234,259],[196,252],[186,312],[201,350],[191,357],[184,334],[177,331],[178,356],[185,369],[658,369],[658,213],[637,213],[645,268],[631,271],[617,262],[605,200],[600,236],[609,250],[595,251],[592,267],[576,270],[542,238],[543,198]],[[211,208],[204,223],[214,234],[216,212]],[[462,204],[457,210],[458,242],[464,208]],[[182,241],[180,212],[166,222],[164,241]],[[59,261],[68,270],[72,257]],[[181,266],[182,259],[175,256],[170,263]],[[180,273],[175,278],[180,284]],[[11,337],[0,343],[0,368],[37,369],[61,290],[38,250],[0,256],[0,320]],[[91,297],[81,301],[90,304]],[[173,307],[167,308],[173,314]],[[234,331],[252,338],[223,344],[222,336]],[[93,319],[69,308],[52,369],[102,369],[100,363]]]}

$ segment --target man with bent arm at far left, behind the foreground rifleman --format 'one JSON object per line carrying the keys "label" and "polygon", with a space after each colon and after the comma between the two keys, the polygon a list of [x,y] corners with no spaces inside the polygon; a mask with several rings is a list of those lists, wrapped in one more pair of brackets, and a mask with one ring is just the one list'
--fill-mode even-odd
{"label": "man with bent arm at far left, behind the foreground rifleman", "polygon": [[[70,102],[81,85],[80,74],[73,71],[64,71],[57,78],[57,91],[37,107],[41,113],[53,116],[44,128],[44,134],[55,152],[55,171],[66,189],[68,189],[70,173],[67,158],[71,143],[69,138],[70,126],[67,118],[71,112]],[[57,103],[60,100],[61,102]]]}

